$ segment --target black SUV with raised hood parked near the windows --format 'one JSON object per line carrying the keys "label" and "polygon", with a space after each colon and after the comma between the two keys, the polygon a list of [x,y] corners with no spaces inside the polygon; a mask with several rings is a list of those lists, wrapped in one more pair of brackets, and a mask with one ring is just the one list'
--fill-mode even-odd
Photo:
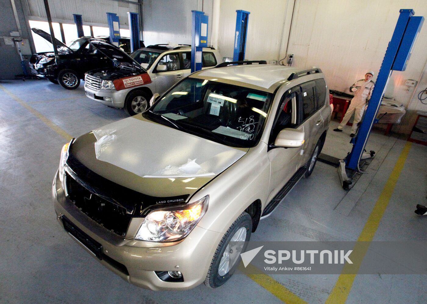
{"label": "black SUV with raised hood parked near the windows", "polygon": [[[48,42],[52,43],[52,37],[41,29],[32,29]],[[80,84],[80,79],[85,77],[85,72],[103,67],[113,67],[113,58],[109,57],[94,46],[95,41],[109,45],[113,49],[120,50],[103,38],[81,37],[67,45],[55,38],[58,56],[53,52],[41,52],[31,56],[29,67],[34,75],[47,78],[51,82],[61,84],[62,87],[73,90]]]}

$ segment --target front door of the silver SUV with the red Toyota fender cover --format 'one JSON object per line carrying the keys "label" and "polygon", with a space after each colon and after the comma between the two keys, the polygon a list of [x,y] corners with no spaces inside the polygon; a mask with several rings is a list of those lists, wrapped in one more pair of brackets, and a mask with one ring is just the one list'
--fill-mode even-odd
{"label": "front door of the silver SUV with the red Toyota fender cover", "polygon": [[[160,66],[166,66],[165,70],[161,70]],[[179,53],[169,53],[160,58],[153,69],[153,74],[155,75],[156,92],[163,94],[183,78]]]}

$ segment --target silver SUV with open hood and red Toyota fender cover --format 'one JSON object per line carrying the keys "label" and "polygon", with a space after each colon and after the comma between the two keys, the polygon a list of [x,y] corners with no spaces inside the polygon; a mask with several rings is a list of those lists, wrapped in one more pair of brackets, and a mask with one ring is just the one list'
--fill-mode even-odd
{"label": "silver SUV with open hood and red Toyota fender cover", "polygon": [[[151,45],[136,50],[130,57],[108,44],[106,47],[111,50],[102,51],[115,58],[117,64],[86,73],[86,96],[110,107],[124,107],[131,116],[145,111],[154,93],[163,94],[190,75],[191,48],[188,45]],[[203,48],[202,69],[221,62],[222,57],[216,49]]]}

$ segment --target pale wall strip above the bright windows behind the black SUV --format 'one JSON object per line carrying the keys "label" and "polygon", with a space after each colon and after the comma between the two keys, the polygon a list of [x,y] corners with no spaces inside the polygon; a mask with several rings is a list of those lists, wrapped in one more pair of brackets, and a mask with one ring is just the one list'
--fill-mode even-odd
{"label": "pale wall strip above the bright windows behind the black SUV", "polygon": [[[31,20],[46,20],[43,0],[25,0]],[[138,0],[129,0],[138,2]],[[138,13],[138,5],[117,0],[49,0],[52,20],[74,23],[73,14],[81,14],[83,24],[105,26],[107,12],[115,13],[120,18],[120,27],[129,29],[127,12]],[[70,23],[70,22],[69,22]]]}

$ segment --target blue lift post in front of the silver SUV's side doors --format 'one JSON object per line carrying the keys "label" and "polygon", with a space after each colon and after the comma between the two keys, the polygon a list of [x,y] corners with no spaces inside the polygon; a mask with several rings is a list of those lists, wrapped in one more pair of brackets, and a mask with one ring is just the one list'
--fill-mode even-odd
{"label": "blue lift post in front of the silver SUV's side doors", "polygon": [[193,28],[191,29],[191,72],[202,69],[202,50],[208,46],[208,20],[204,12],[193,13]]}

